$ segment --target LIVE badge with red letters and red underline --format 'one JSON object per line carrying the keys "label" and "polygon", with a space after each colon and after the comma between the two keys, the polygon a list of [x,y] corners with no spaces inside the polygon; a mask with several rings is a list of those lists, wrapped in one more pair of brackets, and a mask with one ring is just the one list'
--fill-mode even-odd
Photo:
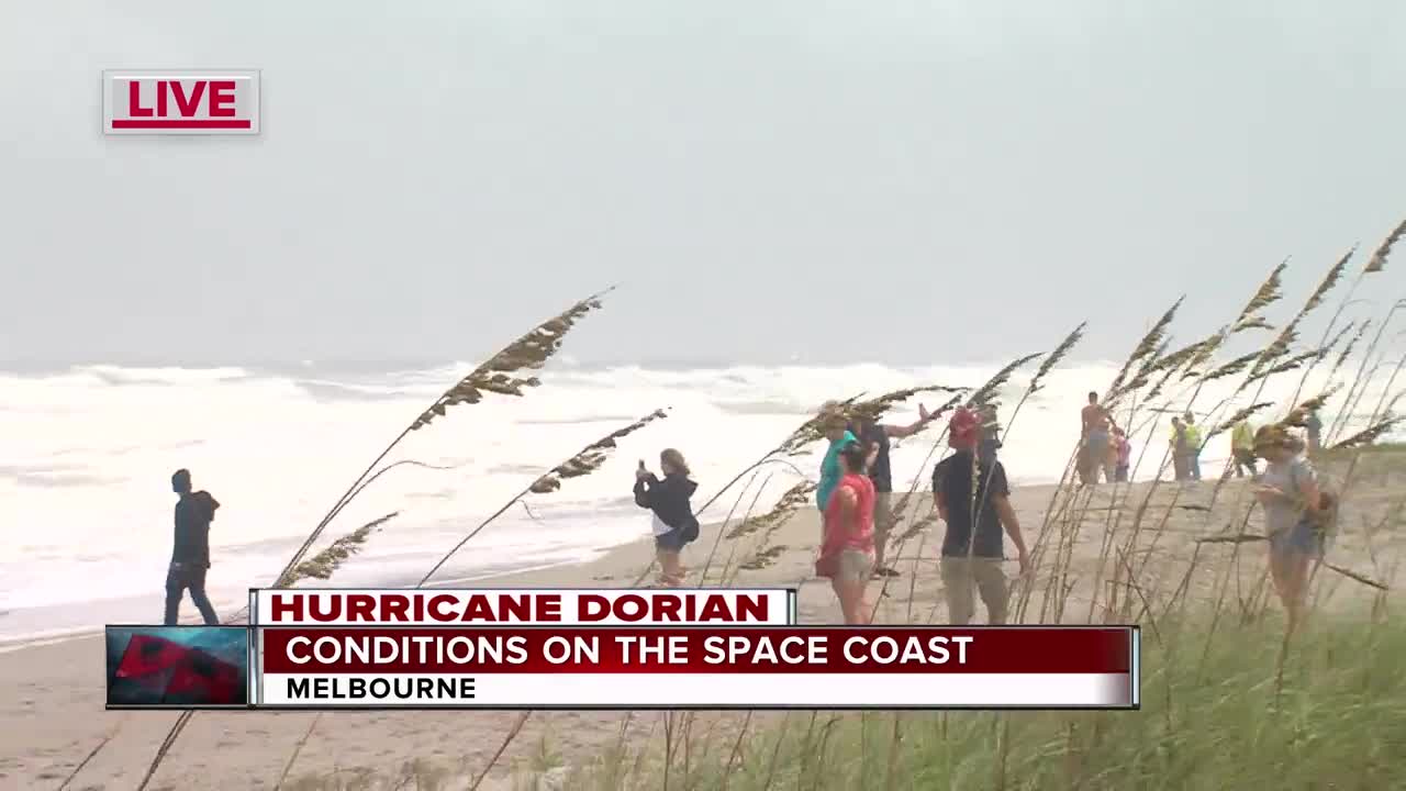
{"label": "LIVE badge with red letters and red underline", "polygon": [[108,135],[257,135],[259,72],[103,72]]}

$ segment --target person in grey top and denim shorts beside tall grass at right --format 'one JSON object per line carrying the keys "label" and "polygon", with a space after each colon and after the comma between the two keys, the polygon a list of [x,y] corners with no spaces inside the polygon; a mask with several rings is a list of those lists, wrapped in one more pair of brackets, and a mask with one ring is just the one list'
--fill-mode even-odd
{"label": "person in grey top and denim shorts beside tall grass at right", "polygon": [[1265,469],[1256,487],[1270,539],[1270,576],[1284,602],[1289,631],[1303,619],[1309,564],[1323,556],[1329,521],[1317,474],[1303,457],[1303,442],[1281,425],[1261,426],[1254,453]]}

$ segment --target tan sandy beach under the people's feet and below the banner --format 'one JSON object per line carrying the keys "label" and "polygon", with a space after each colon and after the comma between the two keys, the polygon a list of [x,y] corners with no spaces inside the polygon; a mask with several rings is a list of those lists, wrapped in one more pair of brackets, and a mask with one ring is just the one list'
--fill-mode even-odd
{"label": "tan sandy beach under the people's feet and below the banner", "polygon": [[[1343,531],[1330,552],[1330,562],[1374,578],[1389,577],[1402,556],[1402,535],[1384,521],[1396,500],[1402,476],[1395,464],[1360,473],[1351,502],[1344,512]],[[1208,472],[1209,474],[1209,472]],[[1194,598],[1211,590],[1227,569],[1232,555],[1241,562],[1236,570],[1250,597],[1263,584],[1263,543],[1205,543],[1199,553],[1195,539],[1225,531],[1236,518],[1243,521],[1244,483],[1230,481],[1220,488],[1213,508],[1208,510],[1215,484],[1211,481],[1178,487],[1149,484],[1132,487],[1102,486],[1084,490],[1070,500],[1054,497],[1054,487],[1029,487],[1012,494],[1025,528],[1026,542],[1040,546],[1043,560],[1029,586],[1032,590],[1024,621],[1112,621],[1123,622],[1132,612],[1142,616],[1144,607],[1156,614],[1167,597],[1185,587]],[[917,514],[927,512],[928,495],[914,498]],[[1049,519],[1052,501],[1071,504]],[[1142,532],[1125,559],[1136,571],[1136,598],[1126,609],[1128,597],[1111,593],[1107,577],[1112,564],[1101,564],[1105,546],[1122,546],[1132,531],[1133,515],[1147,502]],[[1257,532],[1258,511],[1246,531]],[[1157,529],[1154,529],[1157,528]],[[1239,529],[1239,528],[1236,528]],[[900,533],[903,529],[900,528]],[[804,622],[835,622],[839,611],[828,583],[811,578],[811,563],[818,542],[818,521],[804,510],[772,535],[754,533],[741,539],[720,540],[718,526],[703,531],[688,555],[686,563],[699,570],[717,542],[716,570],[742,564],[765,546],[770,564],[741,570],[731,580],[738,586],[796,586],[800,588],[800,616]],[[1042,538],[1043,536],[1043,538]],[[887,583],[879,595],[880,581],[870,588],[879,600],[876,622],[942,622],[942,588],[935,569],[935,542],[939,531],[924,531],[908,539],[891,562],[901,576]],[[1236,549],[1239,546],[1239,549]],[[783,548],[783,549],[775,549]],[[1043,570],[1052,567],[1057,553],[1066,553],[1067,571],[1052,580]],[[640,540],[610,550],[592,563],[562,566],[495,578],[492,586],[600,586],[631,584],[648,566],[652,545]],[[1010,545],[1007,553],[1014,557]],[[1187,573],[1197,555],[1195,570]],[[755,564],[754,564],[755,566]],[[1102,569],[1099,569],[1102,566]],[[1007,564],[1014,574],[1017,564]],[[1324,573],[1320,605],[1353,608],[1369,602],[1374,588],[1336,573]],[[1123,576],[1126,577],[1126,574]],[[692,576],[696,580],[697,574]],[[709,576],[717,584],[720,574]],[[335,580],[333,580],[335,581]],[[1130,588],[1133,586],[1125,586]],[[1021,586],[1017,586],[1019,591]],[[1066,590],[1045,605],[1046,591]],[[1094,591],[1099,591],[1094,597]],[[1017,594],[1019,595],[1019,593]],[[1114,612],[1108,612],[1114,595]],[[1146,604],[1144,604],[1146,602]],[[1015,607],[1012,604],[1012,607]],[[187,605],[188,608],[188,605]],[[1270,612],[1277,604],[1270,604]],[[979,622],[983,614],[979,611]],[[0,674],[7,680],[0,691],[0,788],[58,788],[80,761],[104,739],[111,742],[72,781],[75,790],[134,788],[146,771],[166,730],[176,721],[173,712],[103,711],[103,650],[98,638],[27,647],[0,654]],[[274,788],[294,745],[307,733],[315,715],[200,712],[162,763],[150,788],[157,790],[249,790]],[[332,771],[356,776],[396,777],[408,761],[418,761],[425,774],[457,773],[474,776],[498,752],[505,733],[519,721],[517,712],[346,712],[322,718],[302,747],[284,788],[321,788],[311,778]],[[589,760],[613,740],[636,743],[650,739],[658,715],[631,718],[621,729],[619,712],[544,712],[533,715],[522,735],[512,742],[495,764],[484,788],[512,788],[513,776],[543,771],[562,763]],[[710,715],[713,716],[713,715]],[[713,722],[734,715],[716,715]],[[700,722],[706,718],[700,718]],[[548,771],[548,776],[551,773]],[[392,783],[394,785],[394,783]],[[446,788],[463,787],[463,781]],[[370,785],[377,787],[377,785]]]}

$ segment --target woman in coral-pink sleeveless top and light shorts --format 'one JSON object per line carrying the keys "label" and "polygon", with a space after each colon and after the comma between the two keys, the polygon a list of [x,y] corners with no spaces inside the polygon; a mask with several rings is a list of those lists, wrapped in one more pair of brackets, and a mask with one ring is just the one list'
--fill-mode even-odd
{"label": "woman in coral-pink sleeveless top and light shorts", "polygon": [[838,453],[842,474],[825,507],[825,538],[815,576],[828,577],[845,624],[868,624],[865,588],[875,567],[875,484],[865,474],[868,455],[858,442]]}

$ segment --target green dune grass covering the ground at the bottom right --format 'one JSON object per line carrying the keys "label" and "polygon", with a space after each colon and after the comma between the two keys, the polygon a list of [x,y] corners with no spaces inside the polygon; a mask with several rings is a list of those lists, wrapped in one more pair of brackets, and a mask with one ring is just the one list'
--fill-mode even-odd
{"label": "green dune grass covering the ground at the bottom right", "polygon": [[[1205,622],[1143,636],[1143,708],[1135,712],[793,712],[741,749],[695,754],[672,788],[696,791],[942,788],[1406,787],[1406,628],[1329,621],[1278,662],[1282,625],[1209,640]],[[1268,669],[1268,670],[1267,670]],[[1161,688],[1173,694],[1160,694]],[[896,732],[900,735],[894,739]],[[638,766],[640,768],[636,768]],[[664,760],[602,756],[562,788],[664,788]],[[1272,778],[1272,781],[1271,781]],[[517,787],[534,787],[536,776]]]}

